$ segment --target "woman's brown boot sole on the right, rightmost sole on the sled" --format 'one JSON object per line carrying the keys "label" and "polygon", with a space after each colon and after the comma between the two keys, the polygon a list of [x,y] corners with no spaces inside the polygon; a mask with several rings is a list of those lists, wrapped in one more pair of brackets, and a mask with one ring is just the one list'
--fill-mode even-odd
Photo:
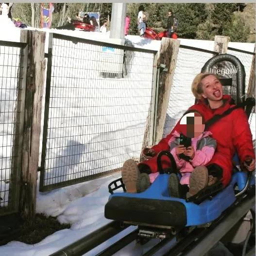
{"label": "woman's brown boot sole on the right, rightmost sole on the sled", "polygon": [[205,166],[198,166],[189,177],[189,190],[187,198],[197,194],[208,185],[208,170]]}

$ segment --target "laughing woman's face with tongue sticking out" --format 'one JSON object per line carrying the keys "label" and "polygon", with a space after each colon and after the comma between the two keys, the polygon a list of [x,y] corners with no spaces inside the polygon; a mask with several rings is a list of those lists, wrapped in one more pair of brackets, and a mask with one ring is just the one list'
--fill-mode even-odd
{"label": "laughing woman's face with tongue sticking out", "polygon": [[208,101],[218,102],[222,100],[223,90],[221,82],[214,76],[208,75],[201,81],[202,96]]}

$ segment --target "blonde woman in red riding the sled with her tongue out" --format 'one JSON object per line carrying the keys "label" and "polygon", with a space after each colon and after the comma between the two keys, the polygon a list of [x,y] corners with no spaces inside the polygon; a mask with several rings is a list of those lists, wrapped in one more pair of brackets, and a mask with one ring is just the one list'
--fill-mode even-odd
{"label": "blonde woman in red riding the sled with her tongue out", "polygon": [[[222,84],[215,74],[200,73],[198,74],[191,86],[192,92],[198,103],[191,106],[188,110],[196,110],[205,119],[211,119],[215,115],[222,115],[226,110],[235,106],[231,96],[223,95]],[[171,133],[160,140],[160,142],[152,148],[145,148],[142,154],[148,159],[136,164],[132,159],[127,160],[123,164],[122,179],[127,192],[137,192],[137,179],[140,173],[157,172],[156,156],[161,151],[170,151],[168,141],[172,137],[174,131],[181,132],[182,127],[180,120],[173,128]],[[216,121],[208,128],[212,133],[212,138],[217,141],[217,149],[211,161],[205,166],[207,175],[215,177],[215,182],[221,180],[223,186],[226,187],[231,180],[233,164],[232,159],[237,152],[241,167],[247,171],[255,170],[255,152],[253,149],[253,140],[248,123],[247,116],[242,108],[233,110],[229,115]],[[250,166],[245,161],[252,159]],[[167,156],[162,158],[163,169],[170,168],[171,162]],[[196,194],[202,189],[202,179],[199,175],[201,172],[193,171],[189,188],[193,186],[193,191],[189,191],[190,195]],[[190,181],[193,184],[190,184]],[[198,184],[194,184],[198,181]],[[201,182],[201,184],[199,184]],[[207,182],[205,181],[205,184]],[[211,183],[212,184],[212,183]],[[207,186],[207,185],[206,185]],[[194,188],[198,189],[195,190]]]}

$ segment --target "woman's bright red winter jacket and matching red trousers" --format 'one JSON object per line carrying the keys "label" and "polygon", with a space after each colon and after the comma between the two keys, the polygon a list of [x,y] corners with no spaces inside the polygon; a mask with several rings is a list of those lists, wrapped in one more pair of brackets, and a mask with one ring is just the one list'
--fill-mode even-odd
{"label": "woman's bright red winter jacket and matching red trousers", "polygon": [[[188,110],[197,110],[204,116],[205,121],[207,121],[214,115],[221,115],[229,108],[235,106],[235,104],[232,103],[231,96],[223,95],[223,100],[225,103],[218,109],[212,110],[207,106],[204,100],[200,100]],[[157,145],[152,147],[156,153],[160,151],[170,151],[168,141],[175,130],[178,132],[181,131],[180,120],[167,137],[161,139]],[[207,130],[212,133],[212,138],[217,140],[217,149],[212,160],[207,165],[215,163],[222,167],[222,182],[224,186],[227,186],[231,180],[233,170],[232,159],[236,152],[241,163],[245,161],[246,156],[251,156],[255,159],[252,133],[247,116],[242,108],[235,109],[229,115],[212,124]],[[142,163],[148,165],[152,172],[157,171],[156,156]],[[163,157],[162,166],[163,168],[171,166],[169,159],[165,156]]]}

